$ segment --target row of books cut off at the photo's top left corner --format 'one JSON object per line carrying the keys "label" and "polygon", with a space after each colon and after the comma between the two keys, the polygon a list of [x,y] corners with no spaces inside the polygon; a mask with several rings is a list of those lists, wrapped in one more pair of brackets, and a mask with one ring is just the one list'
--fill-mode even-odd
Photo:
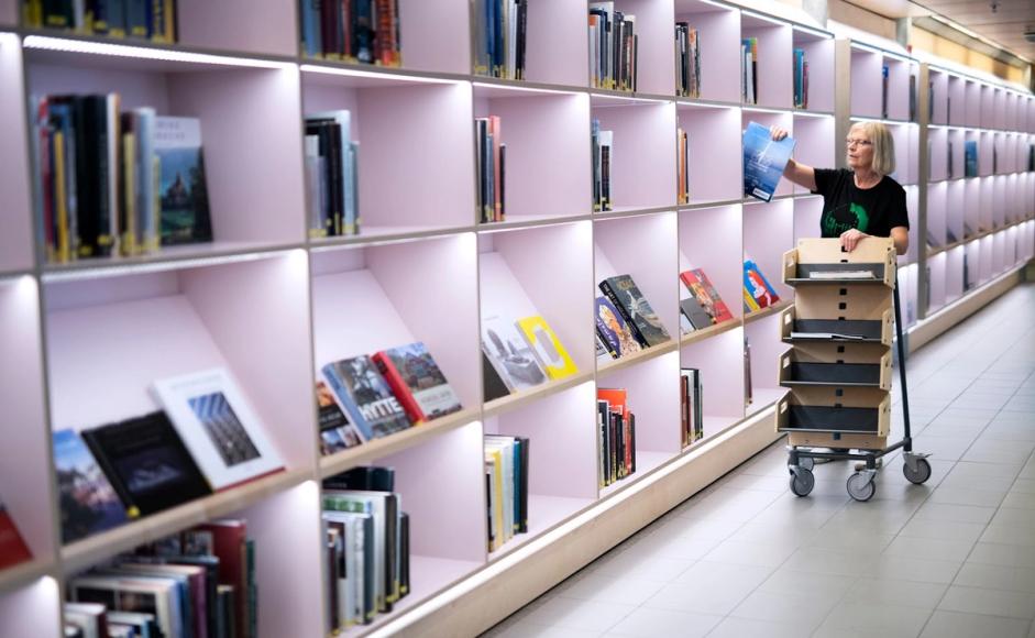
{"label": "row of books cut off at the photo's top left corner", "polygon": [[22,24],[86,35],[178,40],[178,0],[22,0]]}

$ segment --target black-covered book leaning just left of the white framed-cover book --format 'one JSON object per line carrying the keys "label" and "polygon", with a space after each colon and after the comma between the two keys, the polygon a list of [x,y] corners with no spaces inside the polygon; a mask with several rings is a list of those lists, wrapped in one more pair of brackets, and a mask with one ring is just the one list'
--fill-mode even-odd
{"label": "black-covered book leaning just left of the white framed-cover book", "polygon": [[126,508],[154,514],[212,493],[163,411],[82,432]]}

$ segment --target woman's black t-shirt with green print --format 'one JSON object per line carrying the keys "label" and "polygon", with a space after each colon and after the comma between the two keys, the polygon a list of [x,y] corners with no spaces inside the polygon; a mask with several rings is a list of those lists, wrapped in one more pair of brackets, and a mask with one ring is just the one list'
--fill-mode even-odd
{"label": "woman's black t-shirt with green print", "polygon": [[823,196],[819,231],[840,237],[854,228],[873,237],[891,237],[898,226],[910,228],[905,189],[887,175],[872,188],[858,188],[847,168],[816,168],[816,190]]}

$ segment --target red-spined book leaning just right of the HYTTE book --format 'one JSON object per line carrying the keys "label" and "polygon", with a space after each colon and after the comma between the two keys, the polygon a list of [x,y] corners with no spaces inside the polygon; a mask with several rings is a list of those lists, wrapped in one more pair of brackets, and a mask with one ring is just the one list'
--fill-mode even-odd
{"label": "red-spined book leaning just right of the HYTTE book", "polygon": [[423,342],[389,348],[371,359],[414,424],[461,409],[460,398]]}

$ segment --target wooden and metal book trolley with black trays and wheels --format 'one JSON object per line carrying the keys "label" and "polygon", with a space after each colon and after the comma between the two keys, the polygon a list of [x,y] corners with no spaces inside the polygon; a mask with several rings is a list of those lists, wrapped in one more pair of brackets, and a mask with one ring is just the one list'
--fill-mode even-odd
{"label": "wooden and metal book trolley with black trays and wheels", "polygon": [[[906,480],[927,481],[931,463],[913,452],[910,432],[894,242],[865,238],[849,253],[837,239],[800,240],[784,254],[783,280],[795,298],[780,318],[783,342],[792,348],[780,358],[780,385],[789,392],[777,406],[777,430],[788,432],[791,492],[812,492],[816,459],[858,460],[866,466],[848,477],[848,494],[869,501],[878,459],[899,448]],[[889,446],[892,311],[905,432]]]}

